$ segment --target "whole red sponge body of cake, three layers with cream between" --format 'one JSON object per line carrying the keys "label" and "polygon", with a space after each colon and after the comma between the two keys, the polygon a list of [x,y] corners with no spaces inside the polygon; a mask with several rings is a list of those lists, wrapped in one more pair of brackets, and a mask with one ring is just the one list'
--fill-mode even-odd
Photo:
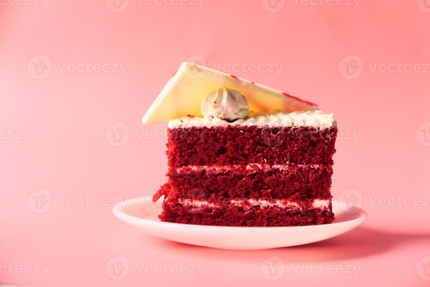
{"label": "whole red sponge body of cake, three layers with cream between", "polygon": [[[168,129],[169,182],[162,221],[200,225],[293,226],[334,220],[336,128]],[[316,203],[316,204],[314,204]]]}

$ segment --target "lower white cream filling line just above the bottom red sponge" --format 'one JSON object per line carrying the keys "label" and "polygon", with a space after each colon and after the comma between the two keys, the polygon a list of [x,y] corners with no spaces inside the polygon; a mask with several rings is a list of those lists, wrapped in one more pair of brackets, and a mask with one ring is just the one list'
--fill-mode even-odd
{"label": "lower white cream filling line just above the bottom red sponge", "polygon": [[[198,201],[193,199],[186,199],[186,198],[179,198],[179,203],[184,204],[186,206],[193,206],[193,207],[220,207],[220,204],[214,204],[209,203],[208,201]],[[329,204],[331,203],[331,200],[329,199],[315,199],[312,202],[312,207],[317,209],[325,209],[329,208]],[[234,206],[240,206],[244,208],[250,208],[254,206],[260,206],[260,208],[264,207],[279,207],[279,208],[299,208],[301,209],[301,202],[291,202],[288,200],[273,200],[273,201],[267,201],[267,200],[255,200],[255,199],[239,199],[239,200],[230,200],[230,204]]]}

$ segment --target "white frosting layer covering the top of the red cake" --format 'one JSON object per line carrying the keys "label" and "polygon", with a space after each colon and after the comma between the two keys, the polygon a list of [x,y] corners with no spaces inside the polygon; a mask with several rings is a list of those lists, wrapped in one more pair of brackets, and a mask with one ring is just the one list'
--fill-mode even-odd
{"label": "white frosting layer covering the top of the red cake", "polygon": [[227,127],[227,126],[267,126],[267,127],[315,127],[326,129],[337,127],[333,114],[324,114],[316,111],[272,111],[260,112],[229,123],[218,117],[179,117],[169,121],[169,128],[187,127]]}

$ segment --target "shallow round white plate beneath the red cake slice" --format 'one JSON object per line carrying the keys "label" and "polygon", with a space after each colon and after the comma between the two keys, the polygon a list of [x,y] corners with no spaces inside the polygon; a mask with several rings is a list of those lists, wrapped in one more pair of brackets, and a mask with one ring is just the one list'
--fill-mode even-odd
{"label": "shallow round white plate beneath the red cake slice", "polygon": [[367,213],[333,201],[335,222],[287,227],[235,227],[161,222],[162,200],[134,198],[114,207],[114,215],[151,235],[181,243],[222,249],[268,249],[313,243],[350,231],[367,219]]}

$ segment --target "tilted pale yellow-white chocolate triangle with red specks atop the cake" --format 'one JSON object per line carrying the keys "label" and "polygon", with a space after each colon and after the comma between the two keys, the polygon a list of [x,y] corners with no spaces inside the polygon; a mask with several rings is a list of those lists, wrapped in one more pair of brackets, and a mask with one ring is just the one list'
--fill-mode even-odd
{"label": "tilted pale yellow-white chocolate triangle with red specks atop the cake", "polygon": [[143,123],[162,123],[188,114],[199,116],[205,96],[221,86],[246,97],[249,110],[314,111],[317,105],[288,96],[281,91],[233,77],[223,72],[184,62],[167,82],[144,115]]}

